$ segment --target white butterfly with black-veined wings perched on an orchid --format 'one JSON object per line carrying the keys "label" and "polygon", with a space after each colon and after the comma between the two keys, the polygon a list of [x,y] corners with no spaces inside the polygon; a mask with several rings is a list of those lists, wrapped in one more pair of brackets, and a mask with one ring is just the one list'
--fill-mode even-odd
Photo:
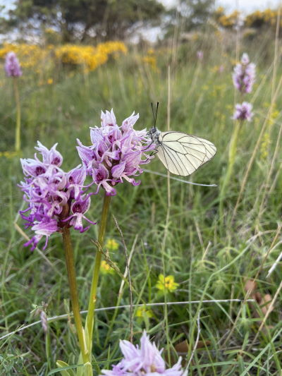
{"label": "white butterfly with black-veined wings perched on an orchid", "polygon": [[157,156],[171,174],[191,175],[214,157],[216,147],[212,142],[195,135],[176,131],[159,131],[156,128],[158,107],[159,102],[157,102],[156,114],[152,107],[154,126],[148,132],[152,143],[156,145]]}

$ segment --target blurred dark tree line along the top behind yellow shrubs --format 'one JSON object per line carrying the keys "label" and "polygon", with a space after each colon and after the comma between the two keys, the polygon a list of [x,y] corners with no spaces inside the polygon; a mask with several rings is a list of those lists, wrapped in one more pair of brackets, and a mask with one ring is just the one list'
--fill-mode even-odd
{"label": "blurred dark tree line along the top behind yellow shrubs", "polygon": [[[2,12],[0,8],[0,15]],[[215,23],[218,28],[236,28],[238,22],[250,28],[276,25],[277,11],[255,11],[242,20],[240,13],[226,14],[214,0],[176,0],[167,9],[160,0],[16,0],[8,16],[0,16],[0,33],[49,37],[57,42],[125,40],[141,28],[159,26],[164,37],[201,30]],[[209,20],[211,21],[209,23]],[[51,40],[52,42],[52,40]],[[54,42],[54,38],[53,38]]]}

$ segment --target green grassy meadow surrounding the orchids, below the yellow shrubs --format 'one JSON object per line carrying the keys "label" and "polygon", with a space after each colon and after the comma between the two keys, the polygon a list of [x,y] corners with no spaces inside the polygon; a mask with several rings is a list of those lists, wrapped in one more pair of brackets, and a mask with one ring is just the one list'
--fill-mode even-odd
{"label": "green grassy meadow surrounding the orchids, below the yellow shrubs", "polygon": [[[235,37],[226,42],[204,35],[200,41],[153,51],[128,48],[92,71],[44,63],[36,70],[23,69],[20,154],[13,152],[13,83],[0,67],[0,375],[54,375],[56,360],[73,365],[79,355],[61,235],[51,236],[44,252],[23,246],[23,235],[31,231],[24,230],[18,216],[24,207],[17,186],[23,179],[19,158],[33,157],[37,140],[47,147],[59,142],[67,171],[80,163],[75,139],[90,145],[89,127],[99,126],[101,110],[113,108],[118,124],[139,112],[136,128],[150,128],[151,102],[157,101],[159,129],[214,142],[214,159],[185,180],[216,186],[192,186],[172,175],[168,180],[157,157],[146,165],[153,172],[140,176],[140,186],[118,185],[106,248],[122,274],[123,241],[132,253],[133,303],[197,301],[133,308],[134,338],[139,341],[146,329],[165,348],[168,363],[183,356],[188,375],[281,375],[281,262],[267,275],[281,253],[281,42],[265,35],[237,44],[237,57],[247,51],[257,65],[254,90],[244,99],[231,78]],[[199,49],[202,61],[196,57]],[[240,124],[233,171],[222,192],[238,126],[231,116],[242,100],[253,104],[255,116]],[[102,197],[92,197],[88,217],[93,221],[99,222]],[[82,310],[87,309],[97,229],[72,231]],[[173,276],[178,285],[159,290],[160,274]],[[104,267],[97,296],[95,375],[121,357],[118,340],[130,336],[130,309],[106,310],[129,305],[128,284],[122,281],[116,270]],[[47,332],[36,309],[42,305],[47,317],[54,317]]]}

